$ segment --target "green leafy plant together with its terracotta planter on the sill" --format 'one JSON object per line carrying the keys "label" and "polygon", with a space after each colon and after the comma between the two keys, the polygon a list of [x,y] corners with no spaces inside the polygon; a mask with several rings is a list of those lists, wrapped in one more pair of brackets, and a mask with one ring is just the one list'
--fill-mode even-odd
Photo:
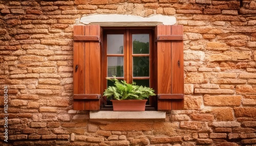
{"label": "green leafy plant together with its terracotta planter on the sill", "polygon": [[113,103],[114,111],[145,111],[146,101],[149,96],[156,95],[154,89],[126,83],[126,81],[118,81],[106,78],[114,82],[115,86],[109,86],[104,91],[104,96]]}

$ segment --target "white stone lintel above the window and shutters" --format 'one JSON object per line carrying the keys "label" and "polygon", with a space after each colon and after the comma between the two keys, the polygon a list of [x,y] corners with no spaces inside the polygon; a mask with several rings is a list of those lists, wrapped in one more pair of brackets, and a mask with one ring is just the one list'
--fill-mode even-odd
{"label": "white stone lintel above the window and shutters", "polygon": [[100,25],[101,27],[148,27],[175,25],[176,18],[166,15],[141,17],[121,14],[94,14],[81,17],[80,23],[84,25]]}

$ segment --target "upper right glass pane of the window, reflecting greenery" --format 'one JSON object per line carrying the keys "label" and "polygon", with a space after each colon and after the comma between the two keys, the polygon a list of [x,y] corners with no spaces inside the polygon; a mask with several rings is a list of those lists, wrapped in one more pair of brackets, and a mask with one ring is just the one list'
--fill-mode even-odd
{"label": "upper right glass pane of the window, reflecting greenery", "polygon": [[133,34],[133,54],[150,53],[150,35]]}

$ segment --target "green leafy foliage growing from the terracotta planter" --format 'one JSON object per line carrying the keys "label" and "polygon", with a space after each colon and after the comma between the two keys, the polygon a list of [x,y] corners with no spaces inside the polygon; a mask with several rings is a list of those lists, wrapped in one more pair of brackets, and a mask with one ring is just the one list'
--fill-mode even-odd
{"label": "green leafy foliage growing from the terracotta planter", "polygon": [[[115,77],[115,76],[113,76]],[[114,100],[143,100],[149,96],[156,95],[155,90],[146,86],[138,86],[135,82],[132,84],[126,83],[126,81],[118,81],[116,78],[110,79],[114,82],[115,86],[109,86],[108,89],[105,89],[104,96],[108,99]]]}

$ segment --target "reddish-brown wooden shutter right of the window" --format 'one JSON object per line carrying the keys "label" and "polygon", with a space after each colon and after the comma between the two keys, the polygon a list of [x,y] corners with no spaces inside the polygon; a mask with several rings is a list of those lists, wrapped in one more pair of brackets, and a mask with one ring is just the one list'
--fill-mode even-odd
{"label": "reddish-brown wooden shutter right of the window", "polygon": [[158,110],[183,109],[183,26],[159,25],[155,31]]}

